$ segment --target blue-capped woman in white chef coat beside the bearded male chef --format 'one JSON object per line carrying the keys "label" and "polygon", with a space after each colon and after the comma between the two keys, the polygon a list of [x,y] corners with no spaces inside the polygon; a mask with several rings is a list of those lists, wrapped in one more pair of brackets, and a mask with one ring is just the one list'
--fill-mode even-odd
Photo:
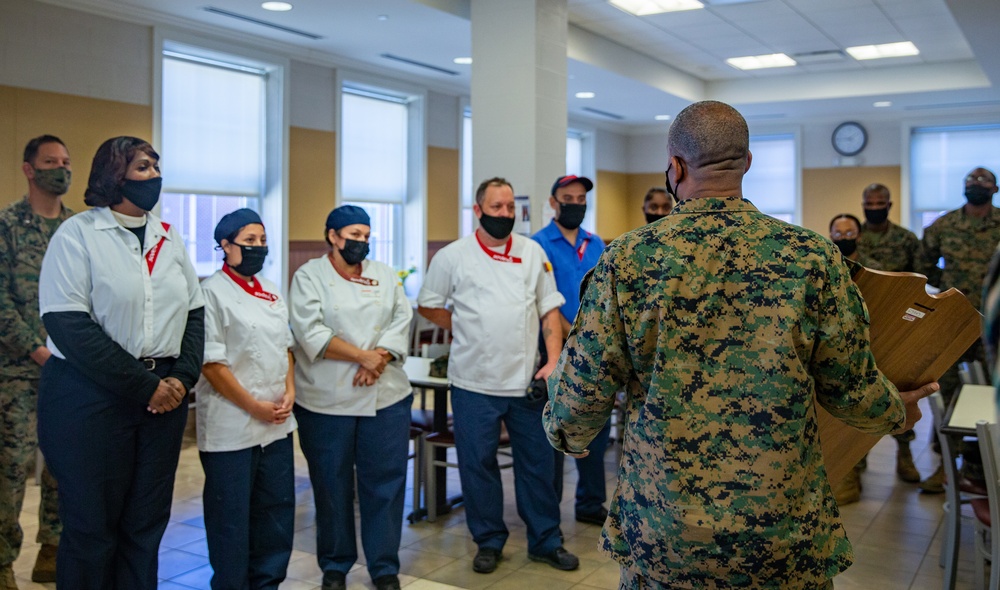
{"label": "blue-capped woman in white chef coat beside the bearded male chef", "polygon": [[371,221],[343,205],[326,220],[328,255],[292,279],[295,417],[316,499],[323,589],[346,587],[361,544],[379,590],[399,588],[399,540],[413,396],[403,362],[413,311],[396,272],[366,260]]}

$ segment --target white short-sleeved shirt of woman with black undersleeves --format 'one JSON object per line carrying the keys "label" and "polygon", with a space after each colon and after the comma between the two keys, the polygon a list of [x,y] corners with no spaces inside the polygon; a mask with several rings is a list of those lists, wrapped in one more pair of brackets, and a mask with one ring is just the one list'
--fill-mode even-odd
{"label": "white short-sleeved shirt of woman with black undersleeves", "polygon": [[[41,314],[84,311],[136,358],[177,357],[187,313],[205,301],[181,235],[152,213],[146,219],[141,251],[107,207],[64,221],[42,260]],[[47,346],[66,358],[52,338]]]}

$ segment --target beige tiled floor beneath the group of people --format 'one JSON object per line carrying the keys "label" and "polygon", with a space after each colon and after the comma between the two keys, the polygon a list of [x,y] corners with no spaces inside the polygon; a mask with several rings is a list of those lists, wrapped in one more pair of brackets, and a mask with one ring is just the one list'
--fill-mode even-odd
{"label": "beige tiled floor beneath the group of people", "polygon": [[[918,439],[912,444],[917,467],[929,474],[937,458],[928,444],[930,411],[925,409],[925,420],[917,425]],[[863,476],[862,500],[847,506],[843,518],[848,534],[854,542],[857,561],[847,572],[838,576],[838,590],[938,590],[941,588],[942,570],[938,567],[941,546],[942,496],[918,494],[916,486],[898,482],[894,474],[895,441],[886,438],[869,456],[868,471]],[[607,456],[609,485],[613,486],[614,453]],[[481,575],[472,571],[475,545],[465,526],[464,512],[458,508],[436,523],[420,522],[414,525],[404,521],[403,541],[400,549],[402,573],[400,580],[408,590],[435,590],[451,588],[480,589],[534,589],[563,590],[566,588],[615,588],[618,567],[597,550],[600,530],[596,526],[573,521],[571,490],[574,489],[575,471],[572,461],[567,461],[566,499],[563,508],[563,532],[566,547],[580,557],[580,569],[560,572],[546,565],[528,561],[524,525],[517,516],[513,503],[512,473],[503,473],[507,493],[506,517],[511,537],[504,551],[506,559],[493,574]],[[193,437],[185,441],[180,468],[174,490],[171,522],[160,549],[160,588],[186,590],[209,588],[212,575],[205,547],[205,530],[202,524],[201,464]],[[449,491],[457,491],[457,472],[449,470]],[[296,511],[295,551],[288,567],[288,579],[283,590],[311,590],[318,588],[321,573],[316,565],[315,528],[312,490],[309,486],[305,460],[296,455],[296,486],[298,508]],[[609,490],[610,491],[610,490]],[[25,530],[26,545],[14,572],[22,590],[55,588],[54,584],[32,584],[29,580],[37,545],[33,543],[37,530],[38,488],[29,485],[21,522]],[[407,496],[409,512],[409,495]],[[959,589],[972,588],[972,535],[969,527],[963,529],[961,557],[958,571]],[[359,543],[360,546],[360,543]],[[365,571],[364,557],[348,576],[348,587],[371,588]]]}

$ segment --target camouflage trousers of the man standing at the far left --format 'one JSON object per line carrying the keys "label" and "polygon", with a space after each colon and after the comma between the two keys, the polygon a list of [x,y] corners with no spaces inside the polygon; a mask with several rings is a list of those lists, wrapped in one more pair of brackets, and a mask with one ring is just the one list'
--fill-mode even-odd
{"label": "camouflage trousers of the man standing at the far left", "polygon": [[[24,487],[38,449],[37,379],[0,379],[0,565],[13,563],[21,552],[24,532],[18,519],[24,503]],[[38,508],[36,542],[58,545],[59,498],[56,480],[42,471],[42,501]]]}

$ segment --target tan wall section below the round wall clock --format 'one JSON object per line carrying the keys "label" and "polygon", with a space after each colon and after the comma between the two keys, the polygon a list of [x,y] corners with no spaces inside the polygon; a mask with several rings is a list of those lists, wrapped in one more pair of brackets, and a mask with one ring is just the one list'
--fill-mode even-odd
{"label": "tan wall section below the round wall clock", "polygon": [[803,170],[802,226],[825,236],[829,234],[830,220],[839,213],[850,213],[864,221],[861,192],[873,182],[889,188],[893,195],[889,219],[899,223],[900,173],[899,166]]}

